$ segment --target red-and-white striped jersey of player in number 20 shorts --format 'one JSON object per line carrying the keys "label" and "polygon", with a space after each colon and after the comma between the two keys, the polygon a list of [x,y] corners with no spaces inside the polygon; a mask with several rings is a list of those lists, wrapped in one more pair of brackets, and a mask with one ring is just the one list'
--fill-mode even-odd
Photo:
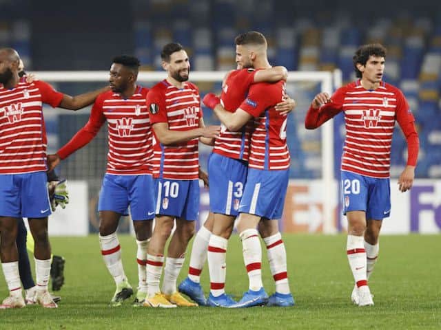
{"label": "red-and-white striped jersey of player in number 20 shorts", "polygon": [[346,139],[342,170],[367,177],[389,177],[392,134],[396,120],[403,128],[415,121],[400,89],[381,83],[362,87],[360,80],[340,87],[331,102],[320,107],[328,118],[345,113]]}

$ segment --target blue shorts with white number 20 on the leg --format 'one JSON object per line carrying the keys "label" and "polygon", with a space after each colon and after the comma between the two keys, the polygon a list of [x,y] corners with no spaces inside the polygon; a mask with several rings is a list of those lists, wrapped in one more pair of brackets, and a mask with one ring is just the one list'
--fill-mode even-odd
{"label": "blue shorts with white number 20 on the leg", "polygon": [[391,214],[389,178],[377,179],[342,170],[343,214],[365,211],[366,219],[382,220]]}

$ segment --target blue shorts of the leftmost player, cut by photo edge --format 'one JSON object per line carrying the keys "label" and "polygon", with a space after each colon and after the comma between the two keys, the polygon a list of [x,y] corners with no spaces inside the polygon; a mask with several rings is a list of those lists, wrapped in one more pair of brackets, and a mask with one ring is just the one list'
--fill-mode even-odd
{"label": "blue shorts of the leftmost player, cut by photo edge", "polygon": [[0,175],[0,216],[45,218],[51,214],[45,172]]}

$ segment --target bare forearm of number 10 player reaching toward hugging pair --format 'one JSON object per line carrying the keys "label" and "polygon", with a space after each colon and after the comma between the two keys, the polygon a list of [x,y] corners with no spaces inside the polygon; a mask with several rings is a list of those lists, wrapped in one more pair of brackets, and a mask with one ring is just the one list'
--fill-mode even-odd
{"label": "bare forearm of number 10 player reaching toward hugging pair", "polygon": [[167,122],[156,122],[152,127],[156,138],[165,146],[187,142],[199,137],[212,139],[216,137],[220,131],[219,126],[199,127],[197,129],[190,129],[189,131],[172,131],[169,129]]}

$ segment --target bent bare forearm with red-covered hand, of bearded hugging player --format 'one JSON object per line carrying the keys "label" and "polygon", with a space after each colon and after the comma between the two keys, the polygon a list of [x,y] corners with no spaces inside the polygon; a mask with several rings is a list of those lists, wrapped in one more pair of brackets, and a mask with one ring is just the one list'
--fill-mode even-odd
{"label": "bent bare forearm with red-covered hand, of bearded hugging player", "polygon": [[212,93],[205,95],[203,103],[210,109],[213,109],[220,122],[222,122],[225,127],[232,132],[239,131],[248,122],[248,120],[253,118],[252,115],[240,108],[234,112],[225,110],[222,104],[220,104],[220,98]]}

